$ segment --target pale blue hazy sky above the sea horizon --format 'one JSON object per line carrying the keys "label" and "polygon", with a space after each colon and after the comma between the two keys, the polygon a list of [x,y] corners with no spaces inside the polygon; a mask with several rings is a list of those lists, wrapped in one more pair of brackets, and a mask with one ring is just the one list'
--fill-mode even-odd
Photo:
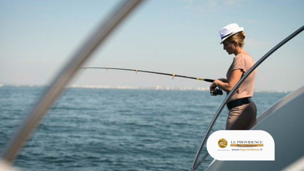
{"label": "pale blue hazy sky above the sea horizon", "polygon": [[[47,85],[120,1],[0,1],[0,84]],[[244,27],[244,49],[258,61],[304,24],[304,1],[151,0],[142,3],[98,48],[85,67],[226,77],[234,55],[219,30]],[[260,65],[255,90],[304,85],[304,33]],[[209,83],[105,70],[79,70],[70,85],[209,87]]]}

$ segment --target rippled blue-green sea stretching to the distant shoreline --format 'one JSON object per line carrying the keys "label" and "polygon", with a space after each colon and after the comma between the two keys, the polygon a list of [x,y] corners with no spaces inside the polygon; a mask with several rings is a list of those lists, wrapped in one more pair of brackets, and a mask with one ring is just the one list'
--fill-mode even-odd
{"label": "rippled blue-green sea stretching to the distant shoreline", "polygon": [[[45,89],[0,87],[0,152]],[[255,92],[257,115],[288,94]],[[224,98],[196,90],[66,88],[13,166],[26,171],[191,170]],[[227,114],[225,107],[212,132],[225,129]],[[198,170],[212,160],[207,157]]]}

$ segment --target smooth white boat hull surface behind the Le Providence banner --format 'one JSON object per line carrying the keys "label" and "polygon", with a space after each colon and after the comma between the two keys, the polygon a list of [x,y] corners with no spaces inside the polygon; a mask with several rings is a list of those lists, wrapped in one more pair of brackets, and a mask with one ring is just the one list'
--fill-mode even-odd
{"label": "smooth white boat hull surface behind the Le Providence banner", "polygon": [[303,128],[304,86],[265,110],[251,129],[271,134],[275,141],[275,161],[214,160],[206,170],[289,170],[303,157]]}

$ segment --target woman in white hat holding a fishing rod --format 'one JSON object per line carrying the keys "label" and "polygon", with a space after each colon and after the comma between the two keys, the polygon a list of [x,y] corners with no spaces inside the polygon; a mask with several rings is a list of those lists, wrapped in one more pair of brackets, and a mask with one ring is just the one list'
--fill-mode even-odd
{"label": "woman in white hat holding a fishing rod", "polygon": [[[213,94],[216,87],[227,92],[233,89],[253,65],[254,60],[244,49],[244,28],[237,24],[229,24],[219,31],[224,50],[228,54],[234,54],[233,62],[227,71],[227,79],[217,79],[210,85]],[[226,122],[226,130],[249,130],[256,124],[257,107],[251,100],[254,91],[256,70],[240,85],[227,103],[229,115]]]}

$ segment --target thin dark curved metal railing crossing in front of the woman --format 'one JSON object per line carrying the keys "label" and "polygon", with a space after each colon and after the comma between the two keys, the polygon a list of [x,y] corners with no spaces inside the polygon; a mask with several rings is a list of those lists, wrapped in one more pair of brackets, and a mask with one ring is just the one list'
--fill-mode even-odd
{"label": "thin dark curved metal railing crossing in front of the woman", "polygon": [[292,33],[291,35],[289,35],[287,38],[285,38],[283,41],[281,41],[278,45],[276,45],[274,48],[272,48],[267,54],[265,54],[259,61],[257,61],[249,70],[247,73],[245,73],[243,75],[243,77],[240,79],[240,81],[237,83],[237,85],[234,86],[234,88],[228,93],[227,97],[224,99],[223,103],[221,104],[221,106],[219,107],[219,109],[217,110],[216,114],[214,115],[209,128],[205,134],[205,137],[203,138],[202,144],[196,154],[195,160],[192,164],[192,171],[195,171],[197,169],[197,167],[204,161],[204,159],[208,156],[208,152],[202,157],[202,159],[198,162],[199,156],[202,152],[202,149],[206,143],[207,137],[210,133],[210,131],[212,130],[213,125],[215,124],[217,118],[219,117],[219,114],[222,112],[224,106],[226,105],[226,103],[228,102],[228,100],[231,98],[231,96],[233,95],[233,93],[239,88],[239,86],[244,82],[244,80],[251,74],[251,72],[253,72],[263,61],[265,61],[272,53],[274,53],[276,50],[278,50],[281,46],[283,46],[285,43],[287,43],[289,40],[291,40],[293,37],[295,37],[296,35],[298,35],[299,33],[301,33],[304,30],[304,26],[302,26],[301,28],[299,28],[298,30],[296,30],[294,33]]}

